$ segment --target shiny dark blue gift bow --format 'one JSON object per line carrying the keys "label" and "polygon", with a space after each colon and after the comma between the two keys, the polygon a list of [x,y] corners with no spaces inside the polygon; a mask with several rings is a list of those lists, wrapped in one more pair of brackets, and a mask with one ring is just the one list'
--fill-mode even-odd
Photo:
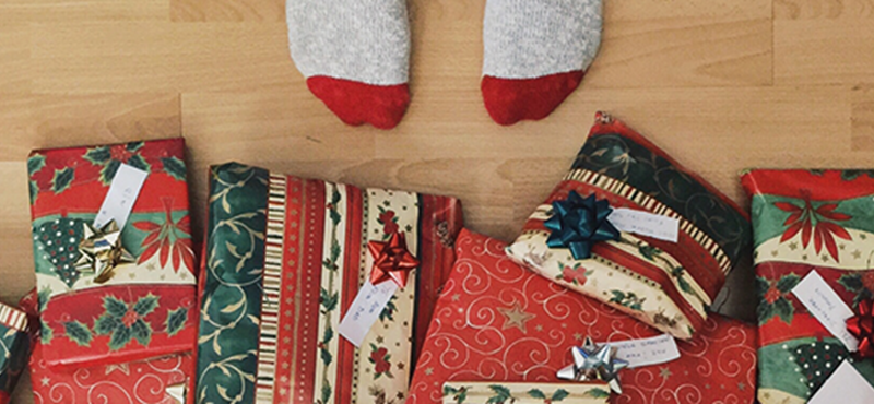
{"label": "shiny dark blue gift bow", "polygon": [[570,191],[566,200],[553,202],[553,216],[544,223],[552,230],[546,245],[570,249],[575,260],[589,259],[597,242],[619,239],[619,230],[607,221],[612,212],[606,200]]}

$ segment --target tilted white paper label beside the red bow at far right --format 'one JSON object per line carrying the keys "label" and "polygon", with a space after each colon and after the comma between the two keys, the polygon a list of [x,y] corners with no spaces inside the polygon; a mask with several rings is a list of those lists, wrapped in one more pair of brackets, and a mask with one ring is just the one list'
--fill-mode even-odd
{"label": "tilted white paper label beside the red bow at far right", "polygon": [[795,285],[792,293],[807,308],[811,316],[840,340],[847,349],[850,352],[859,349],[859,340],[847,331],[847,319],[853,317],[853,310],[840,299],[831,286],[828,286],[819,273],[811,271]]}

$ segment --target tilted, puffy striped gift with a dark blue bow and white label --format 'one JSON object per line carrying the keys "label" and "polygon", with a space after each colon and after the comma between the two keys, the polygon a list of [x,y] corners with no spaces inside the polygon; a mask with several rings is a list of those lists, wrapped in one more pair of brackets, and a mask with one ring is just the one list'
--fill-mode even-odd
{"label": "tilted, puffy striped gift with a dark blue bow and white label", "polygon": [[507,249],[517,262],[675,337],[707,321],[748,253],[745,212],[601,112],[565,179]]}

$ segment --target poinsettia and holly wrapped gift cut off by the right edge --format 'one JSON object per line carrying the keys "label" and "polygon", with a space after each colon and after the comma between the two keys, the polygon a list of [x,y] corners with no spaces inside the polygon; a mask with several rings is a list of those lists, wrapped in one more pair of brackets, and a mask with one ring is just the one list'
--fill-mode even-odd
{"label": "poinsettia and holly wrapped gift cut off by the right edge", "polygon": [[874,384],[874,359],[853,358],[792,293],[816,271],[853,310],[874,298],[874,171],[755,169],[742,182],[755,234],[759,401],[806,403],[845,359]]}

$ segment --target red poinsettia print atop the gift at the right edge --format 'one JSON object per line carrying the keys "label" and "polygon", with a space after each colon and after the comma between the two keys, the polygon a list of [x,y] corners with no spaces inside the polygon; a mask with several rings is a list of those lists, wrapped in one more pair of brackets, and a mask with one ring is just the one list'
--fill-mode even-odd
{"label": "red poinsettia print atop the gift at the right edge", "polygon": [[802,195],[804,201],[802,206],[798,206],[791,202],[773,203],[777,209],[790,213],[789,217],[783,223],[783,226],[789,226],[789,228],[783,233],[780,242],[786,242],[801,233],[801,243],[804,248],[807,248],[811,243],[811,237],[813,237],[814,248],[817,254],[823,250],[823,246],[825,245],[829,256],[831,256],[835,261],[839,262],[838,245],[835,242],[835,237],[845,240],[851,240],[852,237],[850,237],[850,234],[847,233],[843,227],[834,222],[846,222],[851,219],[852,216],[835,212],[838,207],[836,203],[823,203],[814,207],[813,202],[811,202],[810,192],[802,192]]}

